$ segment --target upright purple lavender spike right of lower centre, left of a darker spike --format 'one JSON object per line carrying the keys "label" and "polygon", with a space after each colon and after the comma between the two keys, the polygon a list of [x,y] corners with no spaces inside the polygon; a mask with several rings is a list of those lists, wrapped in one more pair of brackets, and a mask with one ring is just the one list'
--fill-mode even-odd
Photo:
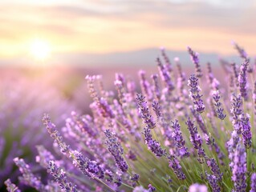
{"label": "upright purple lavender spike right of lower centre, left of a darker spike", "polygon": [[175,119],[175,122],[172,122],[173,125],[173,138],[176,141],[176,146],[178,148],[178,152],[181,155],[181,158],[189,157],[189,151],[188,148],[185,147],[185,141],[182,137],[181,133],[181,126],[179,125],[179,122],[177,119]]}

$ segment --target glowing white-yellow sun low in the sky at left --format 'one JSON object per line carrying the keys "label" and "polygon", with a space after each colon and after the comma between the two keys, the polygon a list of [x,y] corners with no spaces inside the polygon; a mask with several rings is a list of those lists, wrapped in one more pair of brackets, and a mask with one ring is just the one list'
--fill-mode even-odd
{"label": "glowing white-yellow sun low in the sky at left", "polygon": [[39,61],[46,60],[51,54],[50,45],[43,39],[35,39],[30,42],[30,54]]}

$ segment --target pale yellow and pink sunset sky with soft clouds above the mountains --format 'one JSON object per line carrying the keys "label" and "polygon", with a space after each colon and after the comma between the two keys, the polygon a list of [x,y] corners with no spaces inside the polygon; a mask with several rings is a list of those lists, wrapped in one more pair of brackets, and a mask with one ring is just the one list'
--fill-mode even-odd
{"label": "pale yellow and pink sunset sky with soft clouds above the mountains", "polygon": [[55,61],[161,46],[228,55],[232,40],[254,55],[255,18],[253,0],[2,0],[0,62],[27,61],[38,39]]}

